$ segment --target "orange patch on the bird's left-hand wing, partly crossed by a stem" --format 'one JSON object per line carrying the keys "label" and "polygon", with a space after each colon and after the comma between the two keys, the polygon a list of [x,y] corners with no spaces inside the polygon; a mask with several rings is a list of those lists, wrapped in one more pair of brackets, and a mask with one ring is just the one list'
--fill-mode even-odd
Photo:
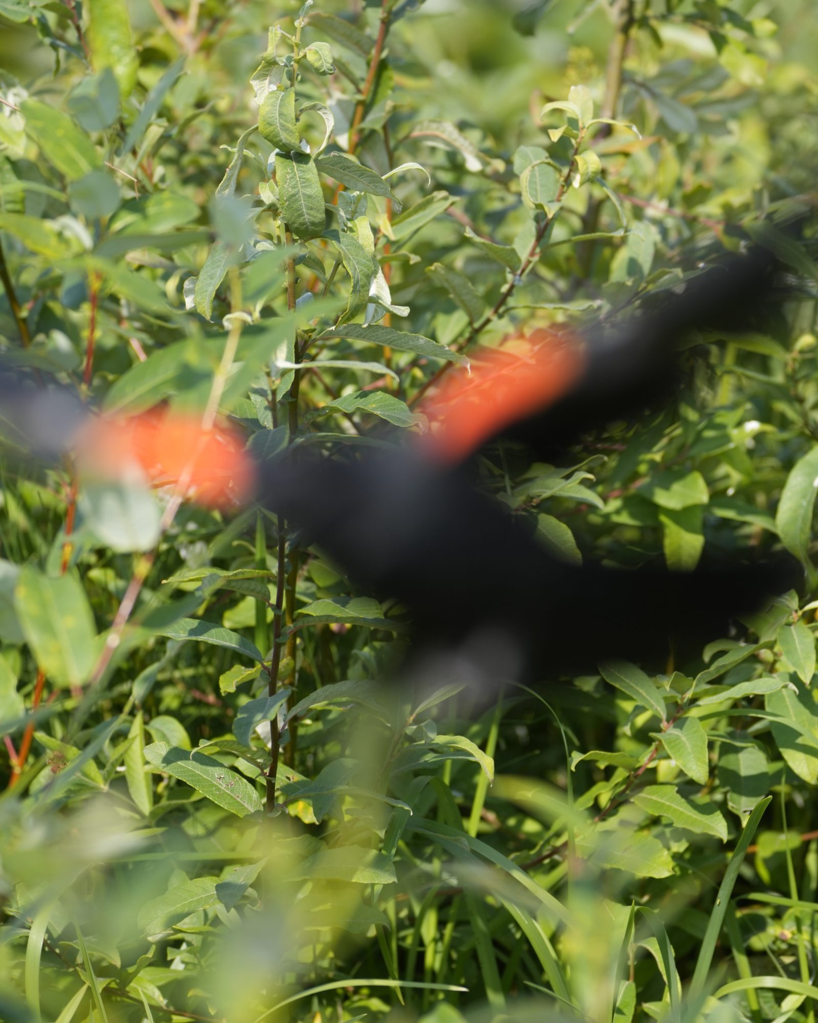
{"label": "orange patch on the bird's left-hand wing, partly crossed by a stem", "polygon": [[254,486],[253,459],[238,434],[226,427],[204,431],[196,416],[101,416],[83,431],[79,454],[94,475],[118,476],[136,464],[156,486],[181,485],[185,496],[209,507],[241,502]]}

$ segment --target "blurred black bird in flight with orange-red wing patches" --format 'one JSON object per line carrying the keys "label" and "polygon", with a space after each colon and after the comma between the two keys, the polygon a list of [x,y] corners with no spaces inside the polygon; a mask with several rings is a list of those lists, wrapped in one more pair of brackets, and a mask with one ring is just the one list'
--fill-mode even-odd
{"label": "blurred black bird in flight with orange-red wing patches", "polygon": [[[692,650],[724,634],[733,616],[799,585],[798,566],[777,558],[689,574],[574,567],[473,487],[469,456],[503,437],[552,458],[589,431],[667,401],[679,385],[680,335],[734,328],[769,294],[772,269],[754,251],[688,281],[681,295],[648,295],[628,319],[597,323],[580,337],[536,335],[526,355],[490,355],[472,377],[451,370],[424,404],[438,420],[424,442],[332,455],[294,445],[257,466],[257,498],[356,584],[406,605],[416,643],[451,649],[491,637],[495,652],[507,652],[492,671],[508,673],[518,662],[554,677],[593,668],[603,657],[664,662],[671,641]],[[58,448],[67,424],[82,420],[64,392],[36,405],[21,405],[19,396],[15,374],[4,387],[0,380],[0,402],[16,405],[31,422],[21,426],[21,444]],[[192,453],[196,428],[156,417],[140,422],[105,424],[85,435],[86,449],[89,436],[93,444],[106,437],[106,458],[119,443],[123,454],[127,447],[145,469],[174,482],[184,461],[179,431],[187,438],[181,447]],[[231,458],[233,475],[246,485],[244,456],[228,434],[217,432],[201,445],[192,477],[201,496],[218,499]],[[98,462],[105,460],[101,448],[91,452]]]}

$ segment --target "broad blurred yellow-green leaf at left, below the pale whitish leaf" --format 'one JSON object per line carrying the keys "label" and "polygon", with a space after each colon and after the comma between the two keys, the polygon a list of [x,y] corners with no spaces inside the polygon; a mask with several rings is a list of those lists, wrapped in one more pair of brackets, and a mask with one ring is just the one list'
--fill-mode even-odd
{"label": "broad blurred yellow-green leaf at left, below the pale whitish leaf", "polygon": [[56,685],[82,685],[96,660],[94,618],[77,577],[20,570],[14,606],[37,666]]}

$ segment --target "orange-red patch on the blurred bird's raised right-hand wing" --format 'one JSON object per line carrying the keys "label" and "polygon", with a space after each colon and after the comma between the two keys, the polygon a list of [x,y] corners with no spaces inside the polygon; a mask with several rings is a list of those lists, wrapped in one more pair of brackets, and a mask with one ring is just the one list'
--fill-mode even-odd
{"label": "orange-red patch on the blurred bird's raised right-hand wing", "polygon": [[585,358],[571,336],[535,330],[525,350],[485,349],[469,374],[453,369],[422,402],[431,457],[453,463],[517,419],[547,408],[579,380]]}

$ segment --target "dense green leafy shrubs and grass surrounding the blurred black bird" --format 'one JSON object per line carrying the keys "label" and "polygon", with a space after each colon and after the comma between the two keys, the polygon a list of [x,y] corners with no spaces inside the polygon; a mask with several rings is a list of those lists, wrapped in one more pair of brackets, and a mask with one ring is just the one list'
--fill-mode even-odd
{"label": "dense green leafy shrubs and grass surrounding the blurred black bird", "polygon": [[[814,1020],[809,0],[0,0],[0,26],[7,358],[105,412],[218,411],[259,457],[403,444],[478,343],[755,241],[776,301],[688,339],[672,407],[481,477],[573,561],[783,546],[807,579],[664,674],[412,701],[401,609],[285,524],[20,472],[4,421],[0,1017]],[[619,611],[589,593],[587,629]]]}

